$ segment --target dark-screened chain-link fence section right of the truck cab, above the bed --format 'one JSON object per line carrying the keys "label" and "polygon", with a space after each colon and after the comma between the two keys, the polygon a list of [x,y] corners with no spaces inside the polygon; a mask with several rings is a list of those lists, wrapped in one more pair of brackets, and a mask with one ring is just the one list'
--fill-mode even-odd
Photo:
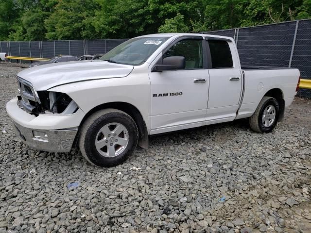
{"label": "dark-screened chain-link fence section right of the truck cab, above the bed", "polygon": [[[311,19],[207,33],[233,37],[242,66],[295,67],[311,79]],[[298,96],[311,97],[311,90]]]}

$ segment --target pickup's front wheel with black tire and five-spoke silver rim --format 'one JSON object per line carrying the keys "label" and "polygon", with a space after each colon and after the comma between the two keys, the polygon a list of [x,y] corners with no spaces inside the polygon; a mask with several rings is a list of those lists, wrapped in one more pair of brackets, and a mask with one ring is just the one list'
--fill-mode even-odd
{"label": "pickup's front wheel with black tire and five-spoke silver rim", "polygon": [[100,167],[123,163],[137,143],[135,121],[117,109],[104,109],[89,116],[82,125],[79,138],[82,155],[89,163]]}

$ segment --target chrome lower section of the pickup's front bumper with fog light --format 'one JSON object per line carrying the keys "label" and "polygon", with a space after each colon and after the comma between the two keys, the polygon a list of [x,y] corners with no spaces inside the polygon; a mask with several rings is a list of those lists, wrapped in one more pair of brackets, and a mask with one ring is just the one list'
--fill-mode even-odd
{"label": "chrome lower section of the pickup's front bumper with fog light", "polygon": [[[23,127],[13,121],[17,136],[29,147],[51,152],[69,152],[78,128],[64,130],[35,130]],[[35,135],[40,133],[43,136]]]}

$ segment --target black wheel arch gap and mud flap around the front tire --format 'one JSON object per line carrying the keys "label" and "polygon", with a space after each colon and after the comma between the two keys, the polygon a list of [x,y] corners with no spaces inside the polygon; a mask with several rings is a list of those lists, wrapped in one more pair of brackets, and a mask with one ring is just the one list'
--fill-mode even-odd
{"label": "black wheel arch gap and mud flap around the front tire", "polygon": [[[138,146],[144,149],[148,149],[149,146],[149,139],[148,139],[148,130],[146,126],[146,122],[144,121],[140,111],[138,110],[137,107],[130,103],[126,102],[108,102],[104,104],[100,104],[91,110],[89,110],[86,115],[83,117],[80,125],[82,125],[85,120],[87,119],[88,116],[92,115],[93,113],[106,109],[106,108],[113,108],[113,109],[118,109],[122,112],[127,113],[130,115],[133,120],[135,121],[137,127],[138,127]],[[79,137],[79,135],[78,135]],[[78,138],[77,137],[77,138]]]}

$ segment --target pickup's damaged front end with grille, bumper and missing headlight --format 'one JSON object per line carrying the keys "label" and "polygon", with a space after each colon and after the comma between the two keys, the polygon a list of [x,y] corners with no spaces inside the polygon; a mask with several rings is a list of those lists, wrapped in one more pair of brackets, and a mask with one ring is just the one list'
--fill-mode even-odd
{"label": "pickup's damaged front end with grille, bumper and missing headlight", "polygon": [[20,95],[7,102],[17,136],[28,146],[52,152],[68,152],[84,113],[65,93],[35,91],[33,85],[17,77]]}

